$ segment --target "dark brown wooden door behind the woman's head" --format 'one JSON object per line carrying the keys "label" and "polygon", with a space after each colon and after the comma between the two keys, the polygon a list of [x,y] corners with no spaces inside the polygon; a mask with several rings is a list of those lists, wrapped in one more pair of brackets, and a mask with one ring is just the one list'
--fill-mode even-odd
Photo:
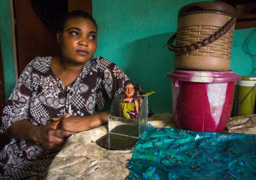
{"label": "dark brown wooden door behind the woman's head", "polygon": [[[16,0],[16,41],[19,75],[37,56],[60,55],[57,30],[34,12],[31,0]],[[84,10],[92,15],[91,0],[68,0],[68,11]]]}

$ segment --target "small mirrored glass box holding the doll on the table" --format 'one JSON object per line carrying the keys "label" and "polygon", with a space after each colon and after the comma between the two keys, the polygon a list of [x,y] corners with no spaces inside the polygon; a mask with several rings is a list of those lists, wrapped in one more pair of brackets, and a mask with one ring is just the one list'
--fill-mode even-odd
{"label": "small mirrored glass box holding the doll on the table", "polygon": [[108,116],[108,133],[96,143],[106,149],[128,150],[139,140],[148,125],[148,97],[139,103],[139,118],[120,117],[120,103],[124,94],[115,96]]}

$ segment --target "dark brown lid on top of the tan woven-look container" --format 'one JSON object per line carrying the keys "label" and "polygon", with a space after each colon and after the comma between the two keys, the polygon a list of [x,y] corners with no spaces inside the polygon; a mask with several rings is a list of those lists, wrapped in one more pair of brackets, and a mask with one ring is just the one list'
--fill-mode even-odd
{"label": "dark brown lid on top of the tan woven-look container", "polygon": [[228,15],[231,17],[235,17],[235,9],[226,4],[221,2],[197,2],[191,3],[179,10],[178,19],[191,14],[199,14],[199,13],[217,13]]}

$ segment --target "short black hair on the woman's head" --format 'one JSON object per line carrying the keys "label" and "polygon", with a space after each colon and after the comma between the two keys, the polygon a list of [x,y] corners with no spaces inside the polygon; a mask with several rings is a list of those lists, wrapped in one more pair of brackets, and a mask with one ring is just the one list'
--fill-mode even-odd
{"label": "short black hair on the woman's head", "polygon": [[82,10],[72,11],[72,12],[68,13],[67,15],[63,16],[60,20],[58,30],[62,33],[66,22],[73,18],[89,19],[93,22],[93,24],[96,26],[96,28],[98,30],[97,24],[96,24],[95,20],[93,19],[93,17],[91,17],[91,15],[89,15],[87,12],[82,11]]}

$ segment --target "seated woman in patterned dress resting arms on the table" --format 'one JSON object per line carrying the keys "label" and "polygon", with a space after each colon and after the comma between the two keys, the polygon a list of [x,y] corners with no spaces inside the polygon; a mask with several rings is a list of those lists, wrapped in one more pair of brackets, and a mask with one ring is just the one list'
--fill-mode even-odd
{"label": "seated woman in patterned dress resting arms on the table", "polygon": [[0,152],[0,179],[41,179],[71,134],[107,124],[104,102],[129,79],[114,63],[93,58],[97,25],[88,13],[66,15],[57,42],[62,55],[32,60],[3,110],[0,132],[13,139]]}

